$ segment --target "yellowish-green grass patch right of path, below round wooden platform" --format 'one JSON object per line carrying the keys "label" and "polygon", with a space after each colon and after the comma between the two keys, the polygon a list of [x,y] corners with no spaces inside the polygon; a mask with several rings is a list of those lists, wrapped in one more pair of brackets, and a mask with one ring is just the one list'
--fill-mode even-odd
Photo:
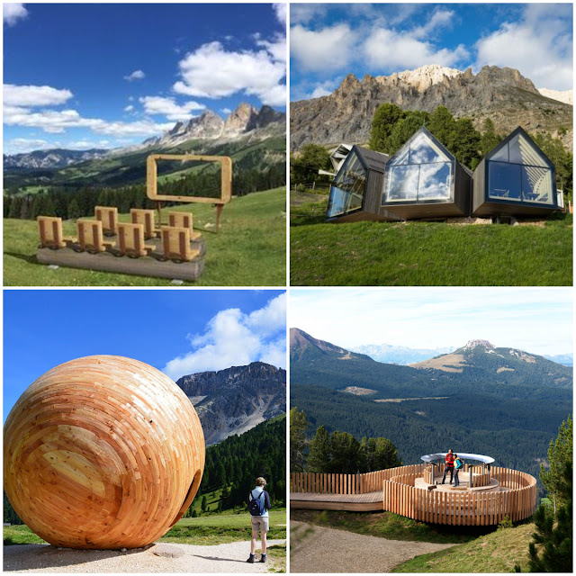
{"label": "yellowish-green grass patch right of path, below round wooden platform", "polygon": [[423,554],[401,563],[392,572],[515,572],[518,564],[527,572],[528,544],[536,527],[521,524],[479,536],[433,554]]}

